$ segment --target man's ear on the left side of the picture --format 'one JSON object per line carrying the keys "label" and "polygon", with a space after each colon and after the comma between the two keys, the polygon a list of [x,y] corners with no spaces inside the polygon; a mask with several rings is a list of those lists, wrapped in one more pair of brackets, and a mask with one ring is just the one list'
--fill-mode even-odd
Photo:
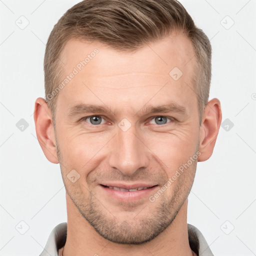
{"label": "man's ear on the left side of the picture", "polygon": [[46,158],[58,163],[56,141],[51,113],[44,98],[37,98],[34,104],[34,123],[38,142]]}

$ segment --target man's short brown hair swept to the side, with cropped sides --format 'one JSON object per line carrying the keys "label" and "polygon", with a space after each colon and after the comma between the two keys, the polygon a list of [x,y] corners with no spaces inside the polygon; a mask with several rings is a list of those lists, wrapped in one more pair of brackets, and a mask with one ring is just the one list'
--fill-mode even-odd
{"label": "man's short brown hair swept to the side, with cropped sides", "polygon": [[63,68],[60,55],[69,39],[99,41],[115,50],[132,52],[174,30],[184,33],[193,45],[196,66],[192,83],[201,124],[209,97],[211,45],[176,0],[83,0],[68,9],[54,25],[44,55],[45,100],[53,121],[57,94],[50,98],[48,95],[60,82]]}

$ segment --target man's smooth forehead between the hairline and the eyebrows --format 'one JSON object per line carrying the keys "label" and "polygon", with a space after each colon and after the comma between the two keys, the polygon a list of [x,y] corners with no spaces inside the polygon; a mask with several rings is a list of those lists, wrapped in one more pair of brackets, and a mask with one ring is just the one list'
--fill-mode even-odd
{"label": "man's smooth forehead between the hairline and the eyebrows", "polygon": [[180,104],[196,103],[196,95],[191,97],[193,46],[181,33],[147,43],[132,53],[116,51],[98,41],[70,39],[61,60],[65,64],[61,81],[75,70],[58,95],[61,104],[68,107],[82,102],[102,104],[100,99],[107,105],[122,102],[123,107],[128,102],[136,104],[137,99],[144,104],[154,94],[159,102],[170,95]]}

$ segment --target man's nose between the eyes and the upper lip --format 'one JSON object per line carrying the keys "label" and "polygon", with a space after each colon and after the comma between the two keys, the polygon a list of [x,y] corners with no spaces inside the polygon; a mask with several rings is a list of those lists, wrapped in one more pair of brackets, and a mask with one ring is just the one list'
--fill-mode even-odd
{"label": "man's nose between the eyes and the upper lip", "polygon": [[135,125],[131,125],[126,131],[117,127],[116,135],[111,140],[111,149],[108,164],[123,175],[132,176],[137,169],[148,166],[149,149],[136,132]]}

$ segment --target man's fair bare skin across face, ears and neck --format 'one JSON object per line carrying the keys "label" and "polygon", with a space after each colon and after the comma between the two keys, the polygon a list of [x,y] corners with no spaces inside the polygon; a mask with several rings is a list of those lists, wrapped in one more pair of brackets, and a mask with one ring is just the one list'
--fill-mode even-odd
{"label": "man's fair bare skin across face, ears and neck", "polygon": [[[173,33],[135,53],[123,53],[96,41],[71,39],[61,55],[65,74],[94,48],[98,54],[58,92],[55,129],[45,100],[35,101],[38,141],[47,159],[60,163],[66,189],[63,256],[195,255],[188,243],[187,196],[197,160],[212,154],[221,108],[218,99],[209,100],[199,126],[190,81],[195,65],[192,44]],[[169,75],[175,66],[183,72],[176,81]],[[170,100],[184,106],[187,114],[142,111]],[[107,106],[111,113],[69,116],[68,108],[78,103]],[[100,115],[100,124],[90,118],[79,121],[91,115]],[[163,116],[163,124],[157,116]],[[118,126],[123,118],[131,124],[126,131]],[[149,195],[196,152],[197,160],[151,202]],[[66,176],[73,169],[80,175],[74,183]],[[106,181],[148,182],[158,188],[137,201],[123,202],[107,196],[99,185]]]}

